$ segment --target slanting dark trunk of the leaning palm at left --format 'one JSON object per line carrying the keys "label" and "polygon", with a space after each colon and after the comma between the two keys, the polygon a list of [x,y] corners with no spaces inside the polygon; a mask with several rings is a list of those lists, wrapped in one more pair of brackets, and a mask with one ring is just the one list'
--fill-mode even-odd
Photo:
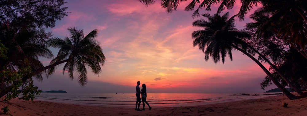
{"label": "slanting dark trunk of the leaning palm at left", "polygon": [[[41,73],[49,68],[52,68],[52,67],[55,67],[56,65],[59,65],[59,64],[62,64],[64,62],[67,62],[69,59],[66,59],[66,60],[62,60],[60,62],[56,62],[54,64],[51,64],[51,65],[48,65],[48,66],[45,66],[44,68],[41,68],[41,69],[38,69],[37,71],[34,71],[32,75],[25,75],[21,78],[22,82],[25,82],[27,81],[28,79],[30,79],[33,75],[36,75],[38,73]],[[9,86],[9,87],[6,87],[4,90],[2,90],[0,92],[0,97],[3,97],[5,96],[7,93],[10,92],[10,90],[12,89],[13,86]]]}

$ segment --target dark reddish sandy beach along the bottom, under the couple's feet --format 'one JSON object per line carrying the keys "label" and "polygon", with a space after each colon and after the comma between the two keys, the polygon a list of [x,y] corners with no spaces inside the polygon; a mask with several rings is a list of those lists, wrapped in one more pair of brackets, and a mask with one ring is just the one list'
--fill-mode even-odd
{"label": "dark reddish sandy beach along the bottom, under the couple's feet", "polygon": [[[282,107],[282,103],[288,107]],[[127,107],[74,105],[47,101],[11,100],[10,114],[14,116],[106,116],[106,115],[257,115],[257,116],[303,116],[307,114],[307,98],[289,100],[278,95],[261,99],[224,102],[201,106],[155,107],[135,111]],[[18,107],[18,108],[17,108]],[[2,112],[1,112],[2,113]]]}

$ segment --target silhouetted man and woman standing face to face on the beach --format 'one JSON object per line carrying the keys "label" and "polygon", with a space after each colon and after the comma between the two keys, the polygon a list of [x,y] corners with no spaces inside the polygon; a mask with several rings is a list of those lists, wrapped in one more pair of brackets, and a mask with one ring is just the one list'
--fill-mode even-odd
{"label": "silhouetted man and woman standing face to face on the beach", "polygon": [[[149,107],[149,110],[151,110],[151,107],[149,106],[149,103],[146,102],[146,97],[147,97],[147,92],[146,92],[146,85],[145,84],[142,84],[142,90],[140,91],[140,87],[139,85],[141,85],[141,82],[138,81],[137,82],[137,86],[135,87],[136,89],[136,103],[135,103],[135,110],[138,110],[138,111],[142,111],[142,110],[145,110],[145,103],[148,105]],[[141,94],[142,94],[142,101],[141,101]],[[141,105],[141,102],[143,102],[143,109],[140,110],[140,105]]]}

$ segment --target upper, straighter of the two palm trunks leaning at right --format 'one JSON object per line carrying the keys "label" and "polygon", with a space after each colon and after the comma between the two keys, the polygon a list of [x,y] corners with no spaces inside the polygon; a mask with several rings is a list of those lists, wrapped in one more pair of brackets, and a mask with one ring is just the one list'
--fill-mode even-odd
{"label": "upper, straighter of the two palm trunks leaning at right", "polygon": [[[244,42],[244,41],[243,41]],[[244,42],[245,43],[245,42]],[[300,88],[298,88],[297,86],[295,86],[289,79],[287,79],[285,77],[285,75],[274,65],[270,62],[270,60],[268,60],[265,56],[263,56],[260,52],[258,52],[258,50],[256,50],[255,48],[253,48],[252,46],[250,46],[249,44],[245,43],[249,48],[251,48],[252,50],[254,50],[260,57],[262,57],[268,64],[270,64],[270,66],[278,73],[278,75],[280,75],[282,77],[282,79],[284,79],[288,84],[289,87],[293,88],[299,95],[302,95],[303,92],[301,91]]]}

